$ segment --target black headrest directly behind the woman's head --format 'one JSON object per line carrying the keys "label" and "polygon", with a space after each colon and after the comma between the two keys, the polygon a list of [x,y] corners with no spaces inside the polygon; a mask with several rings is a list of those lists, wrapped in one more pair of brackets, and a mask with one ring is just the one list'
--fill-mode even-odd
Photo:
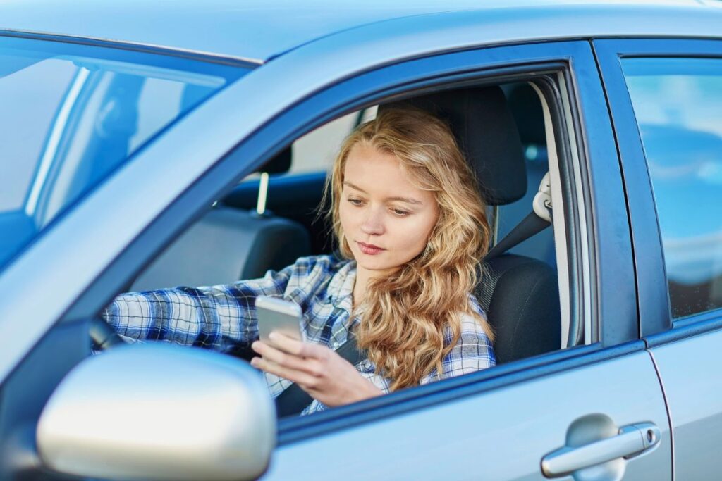
{"label": "black headrest directly behind the woman's head", "polygon": [[500,87],[445,90],[378,108],[383,111],[409,105],[426,110],[449,125],[490,206],[512,203],[524,196],[523,147]]}

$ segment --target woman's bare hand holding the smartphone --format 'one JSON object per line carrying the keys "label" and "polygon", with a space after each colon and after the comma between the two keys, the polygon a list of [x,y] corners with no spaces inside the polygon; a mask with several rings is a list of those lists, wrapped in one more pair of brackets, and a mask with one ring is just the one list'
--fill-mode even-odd
{"label": "woman's bare hand holding the smartphone", "polygon": [[269,339],[274,345],[260,340],[251,345],[263,356],[251,359],[251,366],[295,382],[329,407],[383,394],[349,361],[324,345],[303,343],[277,332]]}

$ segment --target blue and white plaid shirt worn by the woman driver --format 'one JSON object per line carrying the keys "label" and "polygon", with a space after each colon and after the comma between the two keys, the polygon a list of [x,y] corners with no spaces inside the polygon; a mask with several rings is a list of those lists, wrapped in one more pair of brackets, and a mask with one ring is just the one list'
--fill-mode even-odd
{"label": "blue and white plaid shirt worn by the woman driver", "polygon": [[[264,278],[252,281],[121,294],[102,315],[131,342],[161,340],[225,351],[258,339],[256,296],[282,296],[301,306],[304,340],[335,350],[359,322],[358,315],[352,317],[355,280],[355,261],[325,255],[301,257],[294,265],[279,272],[269,270]],[[474,296],[469,295],[469,302],[483,315]],[[445,342],[451,343],[451,332],[445,333]],[[443,372],[434,369],[420,384],[486,369],[495,363],[491,343],[479,323],[465,315],[461,317],[461,336],[442,361]],[[374,374],[371,361],[361,361],[356,369],[388,393],[391,380]],[[274,398],[292,384],[274,374],[264,375]],[[314,400],[302,414],[324,408]]]}

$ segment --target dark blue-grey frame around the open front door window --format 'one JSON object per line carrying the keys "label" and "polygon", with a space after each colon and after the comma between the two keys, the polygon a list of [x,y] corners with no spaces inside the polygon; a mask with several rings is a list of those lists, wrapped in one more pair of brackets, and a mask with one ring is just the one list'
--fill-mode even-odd
{"label": "dark blue-grey frame around the open front door window", "polygon": [[[638,341],[636,299],[630,296],[619,299],[617,294],[618,285],[631,285],[633,280],[631,242],[625,237],[628,226],[621,174],[619,170],[609,168],[610,157],[614,166],[619,162],[599,71],[591,46],[584,40],[487,47],[399,61],[342,79],[300,100],[279,112],[201,175],[105,269],[64,319],[77,318],[89,310],[99,311],[155,253],[199,219],[214,199],[230,193],[248,172],[253,172],[313,128],[380,100],[392,100],[411,91],[418,94],[432,85],[481,84],[483,79],[501,83],[505,81],[502,79],[516,78],[514,76],[539,74],[540,68],[560,72],[568,92],[565,95],[570,103],[567,112],[563,106],[557,112],[562,116],[570,114],[565,117],[565,127],[574,132],[575,145],[569,145],[568,149],[575,149],[578,155],[575,171],[562,174],[575,178],[575,182],[565,182],[565,188],[573,191],[571,199],[578,199],[572,200],[578,206],[566,204],[573,208],[574,214],[567,219],[567,233],[572,234],[568,249],[570,257],[581,259],[578,250],[586,247],[588,260],[584,262],[588,262],[586,267],[589,269],[586,280],[578,277],[582,269],[572,273],[577,276],[572,285],[586,288],[588,292],[588,299],[573,306],[576,309],[573,312],[577,312],[580,320],[590,319],[598,341],[338,407],[311,417],[287,418],[279,423],[279,445],[643,349],[643,343]],[[549,94],[556,96],[555,101],[562,97],[560,92]],[[560,137],[555,131],[557,143],[562,141]],[[560,156],[566,148],[564,144],[557,146]],[[564,169],[572,167],[567,162],[562,164],[565,164]],[[604,189],[595,188],[595,185]],[[578,229],[576,216],[579,213],[585,219],[586,239]],[[586,245],[582,246],[582,243]],[[601,269],[608,274],[600,275]],[[580,286],[579,282],[584,284]]]}

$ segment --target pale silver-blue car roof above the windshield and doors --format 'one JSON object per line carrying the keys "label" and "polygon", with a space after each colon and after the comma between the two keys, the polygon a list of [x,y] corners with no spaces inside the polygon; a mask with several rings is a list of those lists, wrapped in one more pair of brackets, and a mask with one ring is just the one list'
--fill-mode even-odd
{"label": "pale silver-blue car roof above the windshield and doors", "polygon": [[[172,8],[169,6],[172,5]],[[651,8],[652,7],[652,8]],[[521,43],[539,39],[600,36],[720,35],[722,9],[693,0],[666,1],[406,1],[381,0],[339,5],[232,0],[145,2],[92,0],[58,4],[52,0],[6,1],[0,29],[154,45],[264,63],[313,40],[346,33],[369,40],[379,32],[394,35],[456,25],[459,34],[477,25],[475,41]],[[366,30],[373,27],[372,30]],[[433,37],[432,37],[433,38]],[[373,48],[368,45],[368,48]],[[340,50],[340,49],[339,49]],[[380,50],[376,50],[379,53]]]}

